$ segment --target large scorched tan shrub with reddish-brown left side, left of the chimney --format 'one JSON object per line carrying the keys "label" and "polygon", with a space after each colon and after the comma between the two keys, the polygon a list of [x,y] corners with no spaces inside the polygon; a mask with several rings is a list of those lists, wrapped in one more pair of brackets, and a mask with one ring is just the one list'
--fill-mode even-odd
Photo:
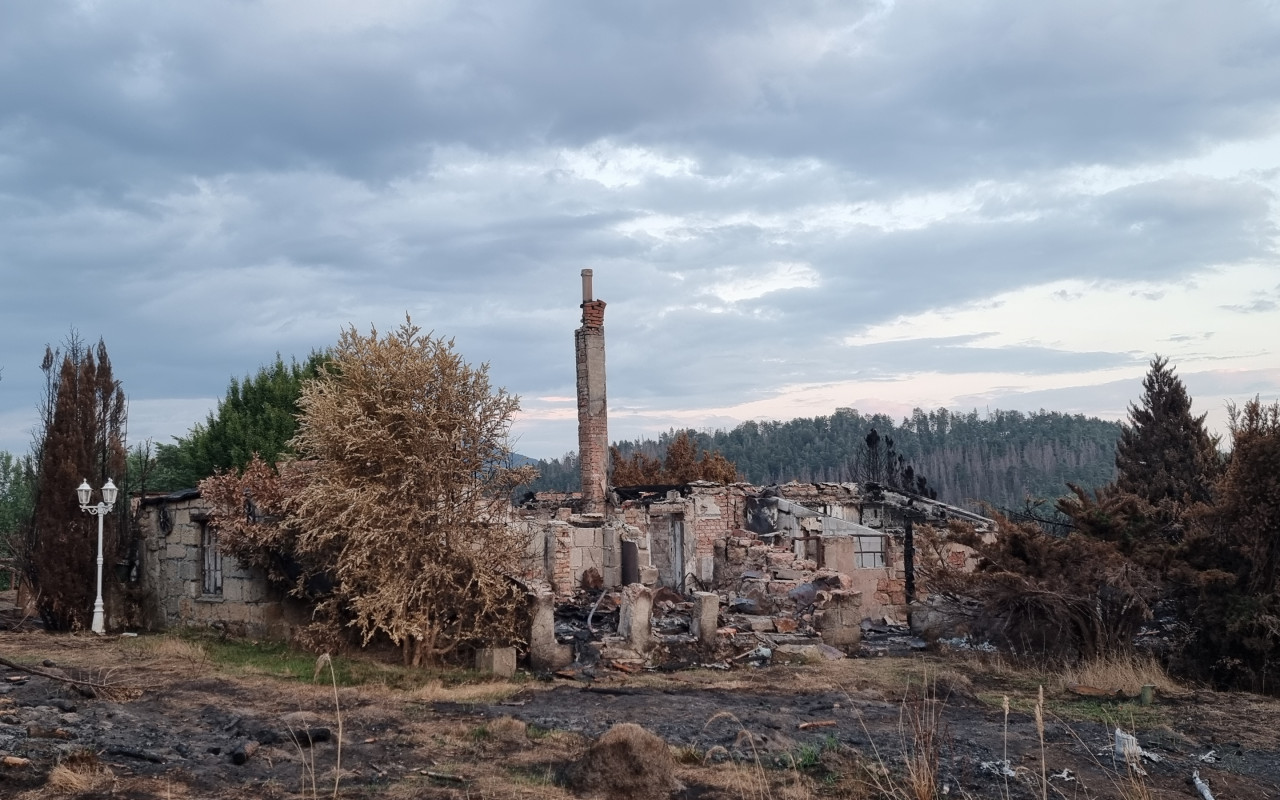
{"label": "large scorched tan shrub with reddish-brown left side, left of the chimney", "polygon": [[506,512],[535,474],[506,466],[520,403],[488,365],[408,319],[348,329],[298,406],[298,461],[201,485],[224,552],[310,600],[334,637],[389,640],[406,664],[520,644],[529,539]]}

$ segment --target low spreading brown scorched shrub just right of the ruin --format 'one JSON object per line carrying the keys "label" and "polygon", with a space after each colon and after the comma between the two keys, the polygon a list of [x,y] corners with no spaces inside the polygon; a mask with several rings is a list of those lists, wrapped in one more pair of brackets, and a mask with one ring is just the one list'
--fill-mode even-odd
{"label": "low spreading brown scorched shrub just right of the ruin", "polygon": [[950,540],[973,548],[972,572],[938,556],[919,575],[946,613],[969,618],[972,637],[1019,655],[1075,662],[1128,650],[1151,616],[1153,584],[1111,543],[1009,520],[989,540],[932,529],[920,539],[936,553]]}

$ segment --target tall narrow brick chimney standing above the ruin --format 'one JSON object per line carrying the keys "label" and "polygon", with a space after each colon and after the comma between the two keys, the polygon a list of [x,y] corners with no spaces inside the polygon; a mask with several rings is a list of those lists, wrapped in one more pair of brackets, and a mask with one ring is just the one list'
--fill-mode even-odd
{"label": "tall narrow brick chimney standing above the ruin", "polygon": [[577,351],[577,458],[582,513],[604,513],[609,468],[609,419],[604,398],[604,301],[591,298],[591,270],[582,270],[582,326]]}

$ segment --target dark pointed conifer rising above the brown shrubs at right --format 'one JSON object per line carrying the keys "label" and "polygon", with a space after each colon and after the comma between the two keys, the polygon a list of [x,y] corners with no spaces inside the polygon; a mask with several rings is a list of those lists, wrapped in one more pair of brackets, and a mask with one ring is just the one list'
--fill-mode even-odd
{"label": "dark pointed conifer rising above the brown shrubs at right", "polygon": [[1207,502],[1220,460],[1204,415],[1192,416],[1192,398],[1166,358],[1151,360],[1142,388],[1116,444],[1116,486],[1152,506]]}

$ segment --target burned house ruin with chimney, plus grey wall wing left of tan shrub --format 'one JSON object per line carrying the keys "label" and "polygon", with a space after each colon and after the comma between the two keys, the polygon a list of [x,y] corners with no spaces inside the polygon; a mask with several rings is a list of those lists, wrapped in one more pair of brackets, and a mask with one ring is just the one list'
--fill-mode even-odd
{"label": "burned house ruin with chimney, plus grey wall wing left of tan shrub", "polygon": [[[925,598],[915,580],[918,527],[960,522],[995,530],[991,520],[963,508],[876,484],[611,486],[605,303],[594,297],[591,270],[581,278],[575,332],[580,490],[526,495],[503,520],[529,541],[531,660],[566,659],[554,639],[553,608],[584,588],[596,598],[613,591],[649,602],[644,598],[657,593],[695,603],[687,631],[704,644],[723,617],[753,631],[786,634],[799,626],[819,632],[824,644],[849,646],[864,620],[905,623],[913,604]],[[287,636],[297,625],[297,609],[264,575],[220,553],[198,492],[142,499],[138,520],[146,627],[200,625]],[[928,557],[965,567],[972,552],[948,544]],[[641,618],[621,614],[618,623],[627,628]],[[636,636],[646,630],[636,622]]]}

